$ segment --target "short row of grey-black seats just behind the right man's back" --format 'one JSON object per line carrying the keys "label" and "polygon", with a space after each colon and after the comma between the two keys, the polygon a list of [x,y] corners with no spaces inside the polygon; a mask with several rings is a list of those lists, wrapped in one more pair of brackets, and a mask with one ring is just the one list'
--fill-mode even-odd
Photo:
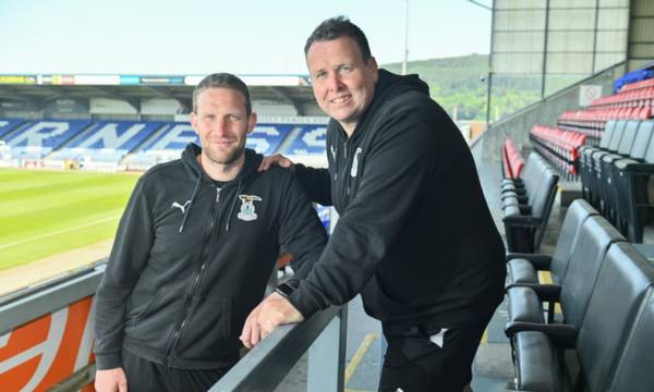
{"label": "short row of grey-black seats just behind the right man's back", "polygon": [[520,179],[504,179],[501,199],[509,252],[536,252],[556,197],[559,176],[543,157],[532,151]]}

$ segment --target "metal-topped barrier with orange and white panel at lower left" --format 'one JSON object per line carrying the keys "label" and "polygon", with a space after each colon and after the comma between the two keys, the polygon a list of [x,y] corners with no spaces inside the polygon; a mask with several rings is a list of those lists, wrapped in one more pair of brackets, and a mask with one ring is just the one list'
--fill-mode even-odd
{"label": "metal-topped barrier with orange and white panel at lower left", "polygon": [[0,298],[3,391],[76,391],[92,382],[93,295],[105,265]]}

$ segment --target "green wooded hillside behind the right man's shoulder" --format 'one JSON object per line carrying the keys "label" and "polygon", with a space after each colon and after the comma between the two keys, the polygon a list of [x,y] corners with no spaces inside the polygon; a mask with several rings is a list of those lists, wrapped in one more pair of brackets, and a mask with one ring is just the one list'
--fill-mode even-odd
{"label": "green wooded hillside behind the right man's shoulder", "polygon": [[[401,63],[382,66],[396,73],[402,68]],[[459,120],[486,119],[488,54],[410,61],[408,72],[419,74],[429,85],[432,97],[450,115],[456,107]],[[509,114],[538,100],[540,94],[537,77],[495,77],[492,115],[496,111],[499,117]]]}

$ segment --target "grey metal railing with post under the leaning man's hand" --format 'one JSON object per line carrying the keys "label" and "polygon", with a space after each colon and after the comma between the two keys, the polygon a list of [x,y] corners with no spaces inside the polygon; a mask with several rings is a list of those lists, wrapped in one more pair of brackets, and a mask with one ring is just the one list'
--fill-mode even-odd
{"label": "grey metal railing with post under the leaning man's hand", "polygon": [[347,305],[282,326],[258,343],[209,392],[270,391],[308,348],[307,391],[343,391]]}

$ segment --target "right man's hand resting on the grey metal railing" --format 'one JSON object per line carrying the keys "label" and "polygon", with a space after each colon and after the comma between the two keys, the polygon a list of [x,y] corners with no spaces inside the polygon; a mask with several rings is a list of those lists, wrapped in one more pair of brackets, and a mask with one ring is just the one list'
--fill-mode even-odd
{"label": "right man's hand resting on the grey metal railing", "polygon": [[245,347],[252,348],[277,326],[301,321],[304,321],[302,314],[284,297],[272,293],[250,313],[240,339]]}

